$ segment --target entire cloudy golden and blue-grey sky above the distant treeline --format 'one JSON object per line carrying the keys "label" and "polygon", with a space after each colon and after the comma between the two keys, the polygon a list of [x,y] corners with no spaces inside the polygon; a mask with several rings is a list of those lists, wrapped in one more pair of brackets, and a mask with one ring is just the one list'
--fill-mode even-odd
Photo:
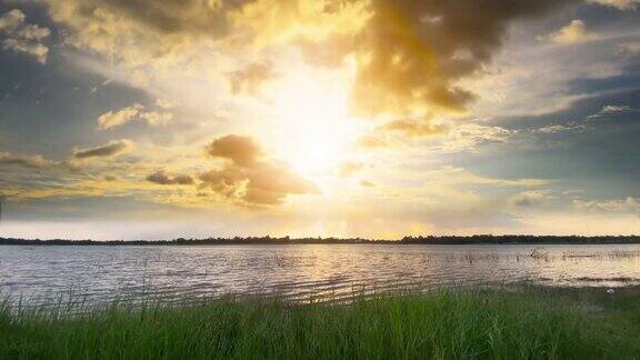
{"label": "entire cloudy golden and blue-grey sky above the distant treeline", "polygon": [[640,233],[638,0],[0,0],[0,237]]}

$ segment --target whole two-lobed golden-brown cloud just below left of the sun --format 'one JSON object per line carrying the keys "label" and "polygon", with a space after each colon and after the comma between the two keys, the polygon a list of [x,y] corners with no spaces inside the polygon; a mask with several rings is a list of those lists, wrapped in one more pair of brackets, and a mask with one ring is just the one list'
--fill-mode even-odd
{"label": "whole two-lobed golden-brown cloud just below left of the sun", "polygon": [[291,194],[317,193],[318,188],[289,168],[261,161],[263,152],[248,137],[227,136],[214,140],[207,152],[231,160],[221,169],[200,176],[201,188],[242,206],[276,206]]}

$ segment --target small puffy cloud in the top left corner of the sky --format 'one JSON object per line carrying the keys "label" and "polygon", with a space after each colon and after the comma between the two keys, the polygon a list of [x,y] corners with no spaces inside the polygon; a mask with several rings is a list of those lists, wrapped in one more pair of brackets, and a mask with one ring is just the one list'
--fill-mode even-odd
{"label": "small puffy cloud in the top left corner of the sky", "polygon": [[18,9],[0,16],[2,48],[32,56],[38,62],[46,63],[49,48],[42,41],[51,34],[51,31],[48,28],[26,23],[24,20],[24,13]]}

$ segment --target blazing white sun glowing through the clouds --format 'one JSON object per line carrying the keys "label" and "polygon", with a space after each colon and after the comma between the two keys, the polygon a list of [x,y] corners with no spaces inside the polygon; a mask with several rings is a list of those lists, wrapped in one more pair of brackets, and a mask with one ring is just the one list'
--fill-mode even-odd
{"label": "blazing white sun glowing through the clouds", "polygon": [[282,158],[306,176],[326,176],[347,161],[362,131],[349,113],[349,82],[320,71],[296,71],[280,82],[273,109]]}

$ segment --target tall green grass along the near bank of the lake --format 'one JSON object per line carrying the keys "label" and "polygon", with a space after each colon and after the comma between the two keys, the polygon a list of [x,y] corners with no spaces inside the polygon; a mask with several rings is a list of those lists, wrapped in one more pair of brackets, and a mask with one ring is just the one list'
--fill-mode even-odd
{"label": "tall green grass along the near bank of the lake", "polygon": [[640,359],[640,297],[436,291],[351,304],[0,309],[0,359]]}

